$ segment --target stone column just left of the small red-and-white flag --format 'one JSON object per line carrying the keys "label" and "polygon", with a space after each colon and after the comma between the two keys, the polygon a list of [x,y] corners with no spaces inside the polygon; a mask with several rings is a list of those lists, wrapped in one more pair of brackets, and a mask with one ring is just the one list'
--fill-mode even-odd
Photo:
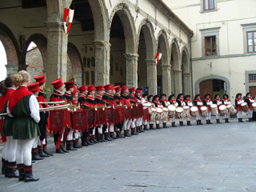
{"label": "stone column just left of the small red-and-white flag", "polygon": [[149,95],[158,93],[157,65],[154,59],[146,59],[147,66],[147,86],[149,86]]}

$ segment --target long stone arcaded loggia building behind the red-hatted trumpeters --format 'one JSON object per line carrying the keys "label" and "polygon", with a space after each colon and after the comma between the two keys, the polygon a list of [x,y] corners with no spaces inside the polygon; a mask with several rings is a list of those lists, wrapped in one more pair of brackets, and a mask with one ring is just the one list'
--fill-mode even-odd
{"label": "long stone arcaded loggia building behind the red-hatted trumpeters", "polygon": [[[66,35],[68,7],[74,21]],[[78,86],[111,83],[149,86],[150,94],[191,93],[193,32],[162,0],[11,0],[1,1],[0,10],[7,74],[26,70],[26,50],[34,42],[49,87],[73,74]]]}

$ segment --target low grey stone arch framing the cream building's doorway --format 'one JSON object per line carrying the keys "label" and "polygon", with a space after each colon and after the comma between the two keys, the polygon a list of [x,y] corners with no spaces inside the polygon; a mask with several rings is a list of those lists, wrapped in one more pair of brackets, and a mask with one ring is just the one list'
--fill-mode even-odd
{"label": "low grey stone arch framing the cream building's doorway", "polygon": [[202,78],[198,78],[198,80],[194,83],[194,94],[199,94],[200,89],[199,89],[199,85],[200,82],[209,80],[209,79],[220,79],[224,82],[226,82],[226,94],[230,95],[230,80],[228,78],[222,77],[220,75],[208,75]]}

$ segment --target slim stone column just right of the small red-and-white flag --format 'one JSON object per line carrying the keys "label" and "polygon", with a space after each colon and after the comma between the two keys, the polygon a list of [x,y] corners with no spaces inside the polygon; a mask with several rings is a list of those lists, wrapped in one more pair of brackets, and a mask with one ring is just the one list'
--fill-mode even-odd
{"label": "slim stone column just right of the small red-and-white flag", "polygon": [[170,64],[162,64],[162,93],[171,94]]}

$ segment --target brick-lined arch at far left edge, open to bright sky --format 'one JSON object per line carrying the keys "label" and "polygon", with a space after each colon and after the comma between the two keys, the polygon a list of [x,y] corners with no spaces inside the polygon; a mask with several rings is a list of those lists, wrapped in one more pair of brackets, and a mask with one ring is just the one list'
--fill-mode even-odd
{"label": "brick-lined arch at far left edge, open to bright sky", "polygon": [[[18,42],[12,31],[0,22],[0,41],[6,50],[7,65],[18,65]],[[8,67],[8,66],[7,66]],[[18,67],[18,66],[17,66]],[[7,69],[8,70],[8,69]],[[18,68],[17,68],[18,70]]]}

